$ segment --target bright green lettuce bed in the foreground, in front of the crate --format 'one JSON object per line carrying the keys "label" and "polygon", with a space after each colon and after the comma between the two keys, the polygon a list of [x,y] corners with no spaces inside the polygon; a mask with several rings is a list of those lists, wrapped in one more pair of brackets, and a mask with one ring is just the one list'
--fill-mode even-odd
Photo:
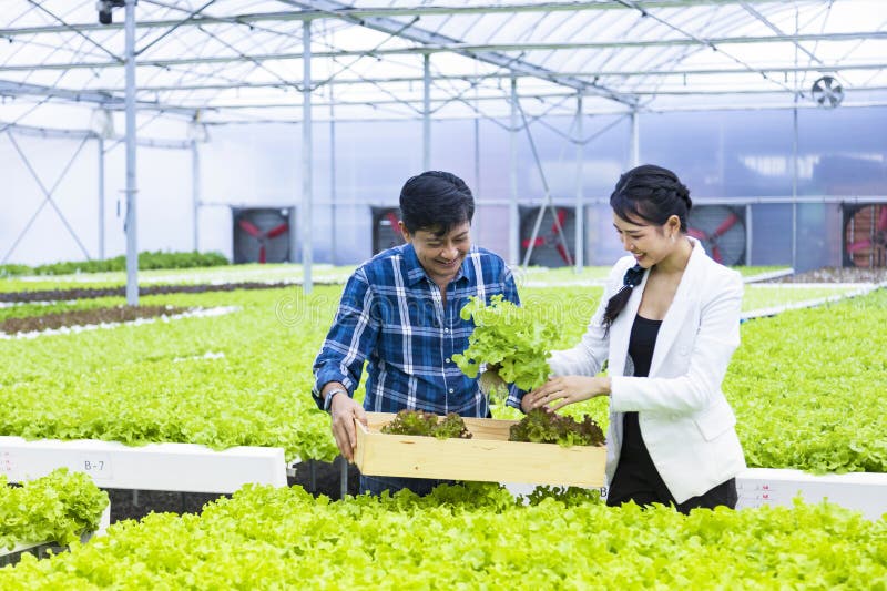
{"label": "bright green lettuce bed in the foreground, in front of the crate", "polygon": [[884,589],[887,520],[834,505],[608,508],[496,485],[330,502],[247,486],[200,516],[152,513],[0,569],[4,590]]}

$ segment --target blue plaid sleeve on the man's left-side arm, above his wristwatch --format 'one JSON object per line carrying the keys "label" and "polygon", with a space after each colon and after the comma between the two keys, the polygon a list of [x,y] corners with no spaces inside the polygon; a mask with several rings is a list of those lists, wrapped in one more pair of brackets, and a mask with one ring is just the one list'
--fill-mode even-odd
{"label": "blue plaid sleeve on the man's left-side arm, above his wristwatch", "polygon": [[360,384],[364,361],[379,334],[379,322],[371,310],[373,291],[363,269],[358,269],[345,285],[336,319],[314,361],[312,395],[318,408],[324,408],[320,391],[330,381],[341,383],[348,396]]}

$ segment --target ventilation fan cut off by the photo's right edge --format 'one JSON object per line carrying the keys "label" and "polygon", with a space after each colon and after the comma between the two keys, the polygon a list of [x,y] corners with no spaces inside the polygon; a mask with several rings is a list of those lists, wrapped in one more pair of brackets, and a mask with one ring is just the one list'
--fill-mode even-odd
{"label": "ventilation fan cut off by the photo's right edge", "polygon": [[887,266],[887,203],[844,207],[844,264]]}

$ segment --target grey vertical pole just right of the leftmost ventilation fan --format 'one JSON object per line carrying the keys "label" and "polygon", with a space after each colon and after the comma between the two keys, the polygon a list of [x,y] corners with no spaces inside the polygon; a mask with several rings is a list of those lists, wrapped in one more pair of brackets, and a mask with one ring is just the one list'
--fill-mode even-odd
{"label": "grey vertical pole just right of the leftmost ventilation fan", "polygon": [[312,293],[312,21],[302,23],[302,289]]}

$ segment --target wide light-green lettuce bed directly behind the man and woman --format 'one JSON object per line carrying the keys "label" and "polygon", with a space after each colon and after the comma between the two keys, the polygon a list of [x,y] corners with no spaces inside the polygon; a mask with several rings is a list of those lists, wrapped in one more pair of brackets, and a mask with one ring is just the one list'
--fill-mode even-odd
{"label": "wide light-green lettuce bed directly behind the man and woman", "polygon": [[[78,335],[0,339],[0,435],[283,447],[332,460],[328,417],[308,393],[341,286],[177,294],[145,305],[241,310]],[[522,291],[572,346],[600,287]],[[742,325],[725,391],[750,466],[887,471],[887,291]],[[150,404],[145,404],[150,401]],[[510,416],[496,409],[497,416]],[[606,401],[574,412],[606,424]],[[513,416],[513,415],[511,415]]]}

